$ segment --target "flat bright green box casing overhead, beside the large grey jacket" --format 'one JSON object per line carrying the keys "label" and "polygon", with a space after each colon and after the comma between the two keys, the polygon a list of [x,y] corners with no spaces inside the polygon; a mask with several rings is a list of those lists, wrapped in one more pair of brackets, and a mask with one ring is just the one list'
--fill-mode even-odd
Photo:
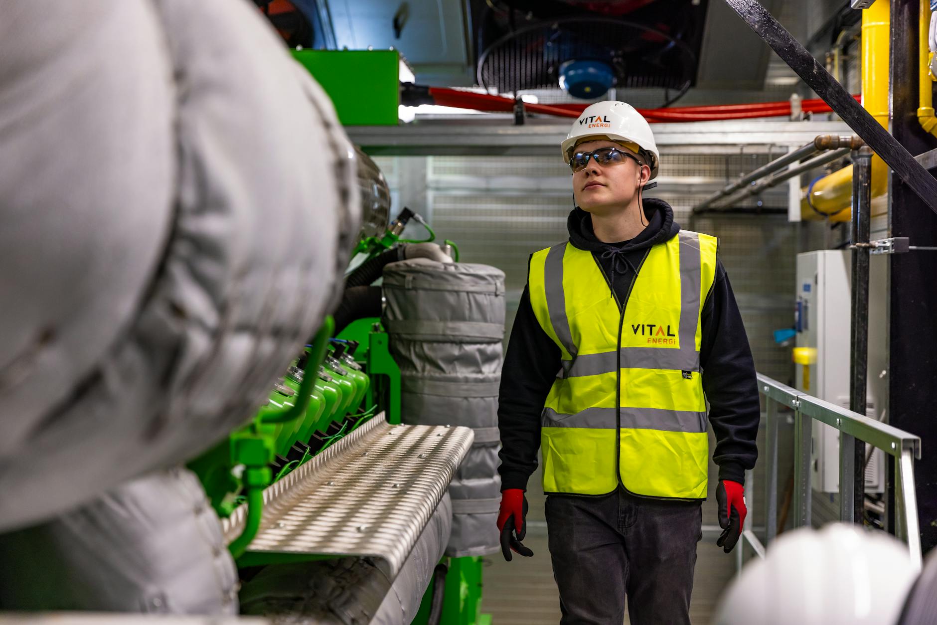
{"label": "flat bright green box casing overhead, beside the large grey jacket", "polygon": [[342,126],[396,126],[400,57],[395,50],[293,50],[332,98]]}

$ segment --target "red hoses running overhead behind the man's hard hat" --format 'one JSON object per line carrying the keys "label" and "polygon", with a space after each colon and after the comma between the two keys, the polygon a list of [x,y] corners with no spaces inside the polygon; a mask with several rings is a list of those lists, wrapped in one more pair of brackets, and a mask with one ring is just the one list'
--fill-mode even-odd
{"label": "red hoses running overhead behind the man's hard hat", "polygon": [[[477,111],[513,111],[514,101],[510,97],[476,94],[470,91],[458,91],[444,87],[429,87],[429,94],[440,106]],[[859,99],[860,96],[854,96]],[[559,117],[578,117],[587,104],[529,104],[524,103],[528,112],[557,115]],[[803,112],[832,112],[822,99],[803,100],[800,104]],[[787,100],[778,102],[757,102],[754,104],[718,104],[711,106],[671,107],[669,109],[638,109],[648,122],[714,122],[729,119],[753,119],[756,117],[783,117],[791,114],[791,103]]]}

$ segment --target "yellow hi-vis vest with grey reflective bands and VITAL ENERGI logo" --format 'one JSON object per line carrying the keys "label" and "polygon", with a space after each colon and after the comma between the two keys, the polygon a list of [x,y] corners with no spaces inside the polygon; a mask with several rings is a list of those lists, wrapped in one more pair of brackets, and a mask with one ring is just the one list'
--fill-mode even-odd
{"label": "yellow hi-vis vest with grey reflective bands and VITAL ENERGI logo", "polygon": [[700,316],[717,246],[680,231],[650,247],[623,310],[591,252],[531,257],[530,304],[562,354],[543,407],[544,492],[706,498]]}

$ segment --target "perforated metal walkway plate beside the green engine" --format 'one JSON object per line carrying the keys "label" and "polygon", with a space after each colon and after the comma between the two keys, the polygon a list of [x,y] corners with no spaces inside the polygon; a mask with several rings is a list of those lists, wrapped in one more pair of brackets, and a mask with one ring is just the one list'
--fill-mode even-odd
{"label": "perforated metal walkway plate beside the green engine", "polygon": [[[364,424],[263,493],[248,551],[379,558],[395,576],[471,447],[468,427]],[[245,506],[222,528],[233,540]]]}

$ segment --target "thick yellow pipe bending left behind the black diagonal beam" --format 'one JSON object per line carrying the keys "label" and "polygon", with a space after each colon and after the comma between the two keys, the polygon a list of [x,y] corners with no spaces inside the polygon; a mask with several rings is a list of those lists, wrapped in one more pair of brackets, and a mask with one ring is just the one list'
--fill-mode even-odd
{"label": "thick yellow pipe bending left behind the black diagonal beam", "polygon": [[[927,2],[927,0],[924,0]],[[876,0],[862,11],[862,106],[879,124],[888,127],[888,48],[891,37],[891,2]],[[884,195],[888,190],[887,166],[879,156],[872,156],[871,196]],[[809,200],[808,200],[809,198]],[[853,200],[853,166],[817,180],[804,189],[800,202],[802,219],[820,219],[824,213],[831,221],[849,221]],[[813,210],[811,208],[811,204]],[[873,213],[873,215],[875,215]]]}

